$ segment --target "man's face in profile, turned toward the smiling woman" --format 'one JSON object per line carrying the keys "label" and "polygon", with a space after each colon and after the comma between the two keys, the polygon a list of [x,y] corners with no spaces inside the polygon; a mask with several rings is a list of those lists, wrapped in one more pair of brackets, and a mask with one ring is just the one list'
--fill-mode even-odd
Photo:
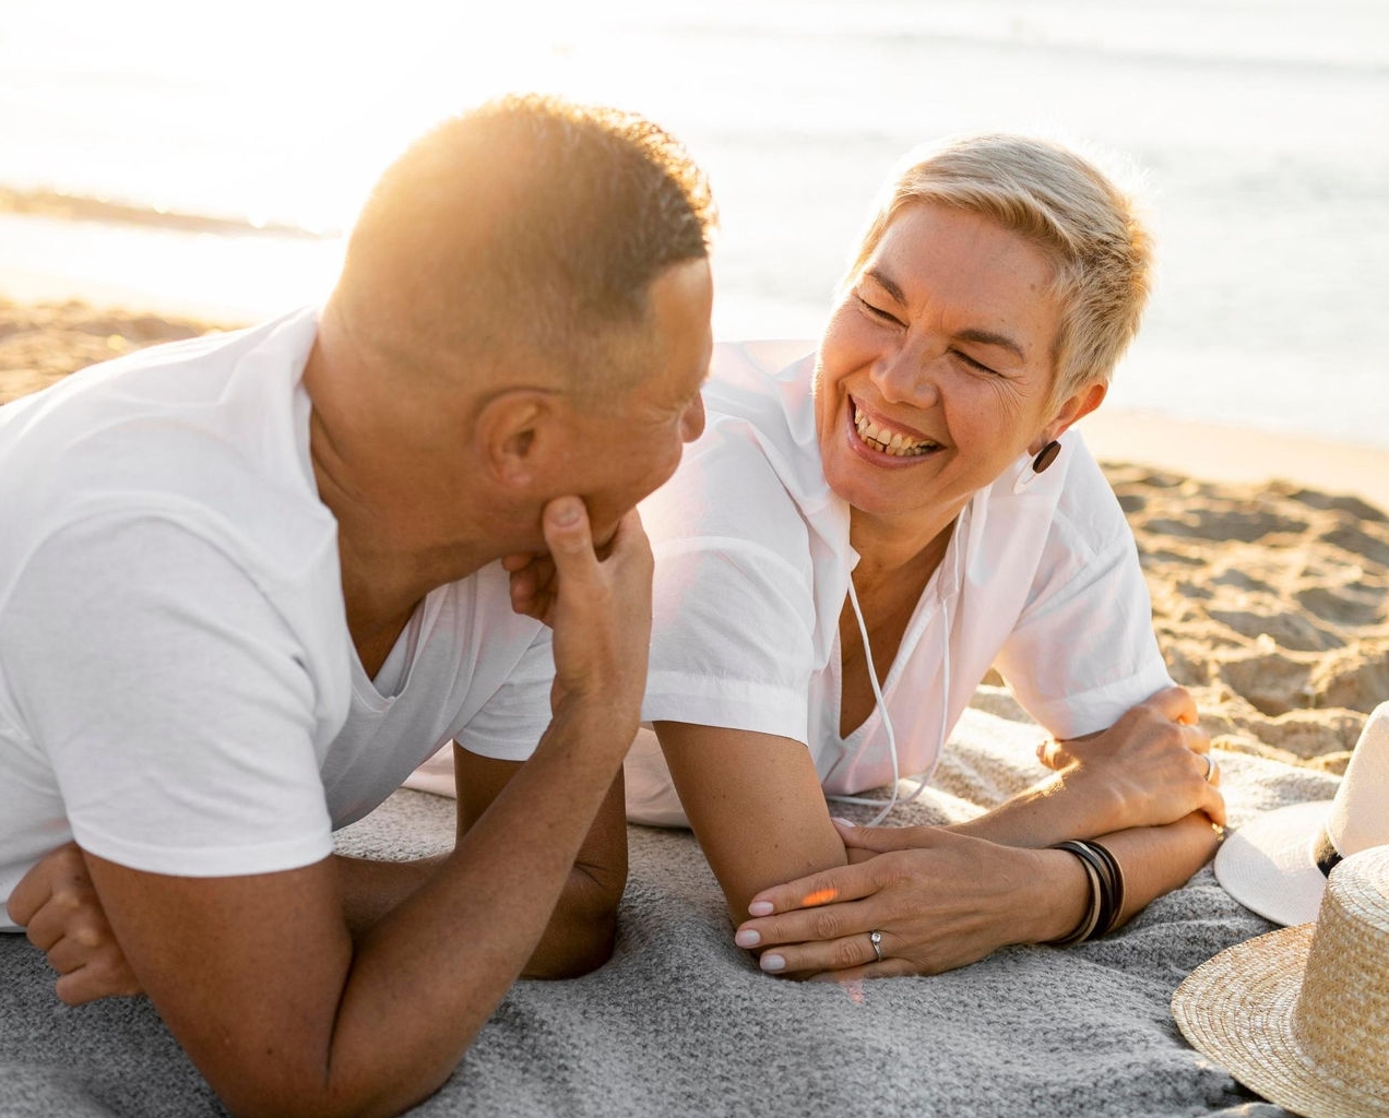
{"label": "man's face in profile, turned toward the smiling woman", "polygon": [[714,347],[713,303],[707,260],[674,264],[661,272],[651,283],[646,328],[654,344],[642,347],[653,354],[651,367],[633,376],[632,387],[611,407],[572,412],[561,485],[583,497],[599,543],[675,472],[685,443],[704,431],[700,386]]}

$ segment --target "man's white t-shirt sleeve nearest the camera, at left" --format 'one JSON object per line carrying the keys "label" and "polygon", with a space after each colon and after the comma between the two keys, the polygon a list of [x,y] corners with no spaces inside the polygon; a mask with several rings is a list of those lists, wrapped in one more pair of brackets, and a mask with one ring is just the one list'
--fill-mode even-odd
{"label": "man's white t-shirt sleeve nearest the camera, at left", "polygon": [[311,657],[211,543],[157,518],[63,529],[4,603],[0,658],[83,849],[188,876],[332,851]]}

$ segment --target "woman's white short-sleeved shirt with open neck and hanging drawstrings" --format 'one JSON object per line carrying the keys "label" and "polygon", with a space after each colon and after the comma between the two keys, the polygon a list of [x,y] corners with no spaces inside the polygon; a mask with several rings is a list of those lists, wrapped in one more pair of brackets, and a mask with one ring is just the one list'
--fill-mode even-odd
{"label": "woman's white short-sleeved shirt with open neck and hanging drawstrings", "polygon": [[[715,347],[704,435],[642,506],[656,551],[643,718],[804,742],[824,789],[856,793],[893,765],[881,710],[839,733],[849,507],[821,465],[813,358],[772,372],[758,353]],[[883,686],[903,775],[931,769],[990,667],[1058,737],[1171,682],[1118,501],[1081,437],[1061,443],[1022,492],[1026,458],[975,493],[917,604]],[[681,822],[650,736],[626,782],[629,818]]]}

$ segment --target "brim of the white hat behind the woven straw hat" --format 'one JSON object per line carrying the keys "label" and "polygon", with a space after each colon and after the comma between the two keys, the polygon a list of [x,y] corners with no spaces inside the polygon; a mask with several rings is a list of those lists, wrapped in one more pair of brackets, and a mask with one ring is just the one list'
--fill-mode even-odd
{"label": "brim of the white hat behind the woven straw hat", "polygon": [[1313,836],[1331,800],[1292,804],[1232,831],[1215,854],[1215,881],[1264,919],[1293,926],[1317,919],[1326,875],[1313,861]]}

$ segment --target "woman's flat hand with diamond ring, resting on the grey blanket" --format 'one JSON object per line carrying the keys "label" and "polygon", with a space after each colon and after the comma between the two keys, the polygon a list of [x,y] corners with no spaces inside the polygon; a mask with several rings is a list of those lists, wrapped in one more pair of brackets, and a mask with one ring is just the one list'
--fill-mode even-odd
{"label": "woman's flat hand with diamond ring, resting on the grey blanket", "polygon": [[764,971],[836,982],[938,974],[1008,943],[1058,939],[1089,903],[1085,871],[1064,851],[932,826],[839,831],[846,847],[876,857],[753,897],[735,943],[761,951]]}

